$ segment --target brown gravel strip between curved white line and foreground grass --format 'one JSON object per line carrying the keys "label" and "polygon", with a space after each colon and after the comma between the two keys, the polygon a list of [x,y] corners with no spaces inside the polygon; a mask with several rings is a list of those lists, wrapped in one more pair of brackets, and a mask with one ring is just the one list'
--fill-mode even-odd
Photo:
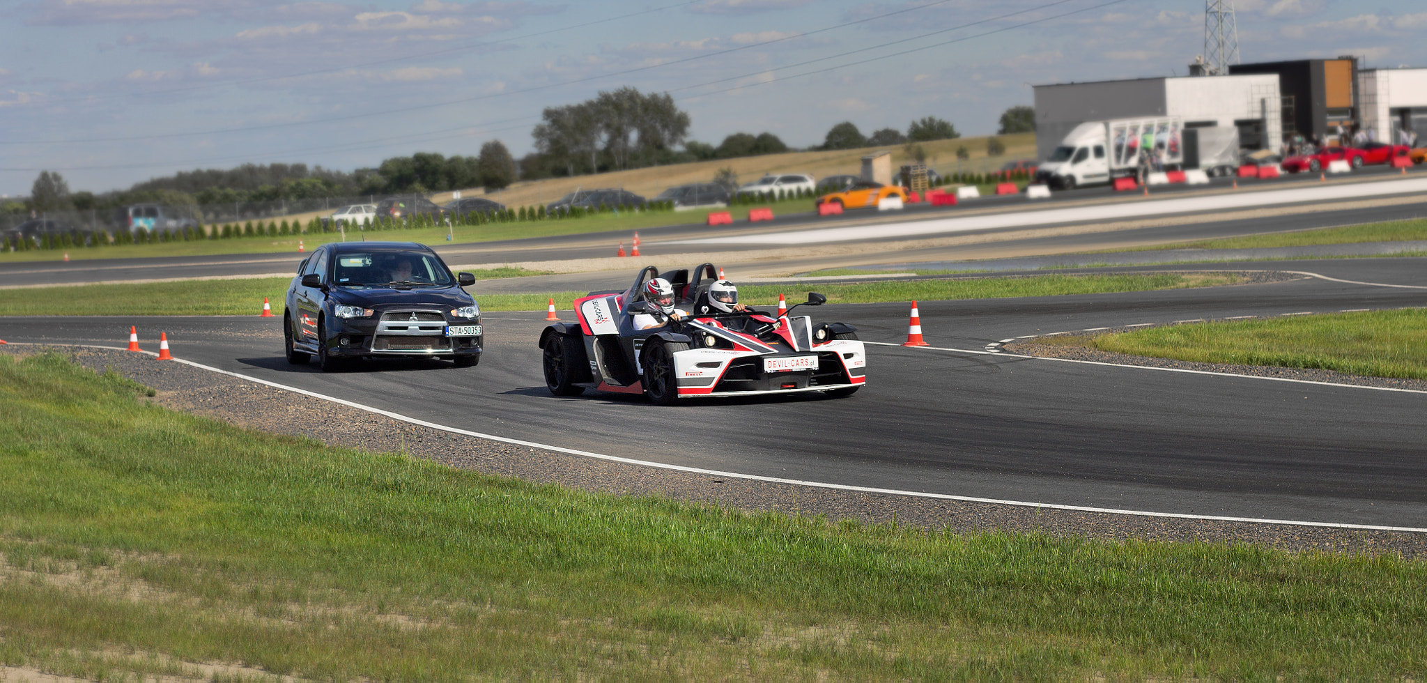
{"label": "brown gravel strip between curved white line and foreground grass", "polygon": [[[1025,352],[1032,346],[1035,345],[1023,344],[1017,348]],[[896,522],[953,532],[1002,530],[1097,540],[1253,543],[1281,550],[1427,558],[1427,533],[1037,509],[725,479],[605,462],[452,435],[190,365],[157,361],[147,354],[83,346],[50,348],[96,371],[113,368],[114,372],[156,389],[153,401],[176,411],[248,429],[310,436],[328,445],[378,452],[405,451],[452,468],[577,489],[629,496],[659,495],[742,510],[826,515],[829,519]],[[6,354],[33,354],[39,349],[40,346],[31,345],[0,346],[0,352]],[[1056,352],[1075,351],[1056,348]]]}

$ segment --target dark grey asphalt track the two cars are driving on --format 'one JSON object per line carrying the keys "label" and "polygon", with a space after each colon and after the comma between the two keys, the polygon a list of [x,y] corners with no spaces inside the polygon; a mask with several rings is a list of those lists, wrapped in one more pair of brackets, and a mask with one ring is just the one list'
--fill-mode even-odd
{"label": "dark grey asphalt track the two cars are driving on", "polygon": [[[746,475],[1090,508],[1427,528],[1427,394],[1196,375],[1009,354],[989,344],[1196,318],[1427,305],[1423,260],[1236,264],[1327,278],[1213,289],[922,302],[932,349],[898,346],[906,304],[828,305],[869,345],[846,399],[654,408],[551,396],[542,314],[488,314],[477,368],[291,366],[280,318],[4,318],[10,342],[146,349],[482,433]],[[1354,284],[1373,282],[1373,284]],[[1384,287],[1397,285],[1397,287]],[[564,314],[569,317],[568,312]],[[158,361],[154,361],[158,362]],[[317,401],[317,399],[314,399]]]}

